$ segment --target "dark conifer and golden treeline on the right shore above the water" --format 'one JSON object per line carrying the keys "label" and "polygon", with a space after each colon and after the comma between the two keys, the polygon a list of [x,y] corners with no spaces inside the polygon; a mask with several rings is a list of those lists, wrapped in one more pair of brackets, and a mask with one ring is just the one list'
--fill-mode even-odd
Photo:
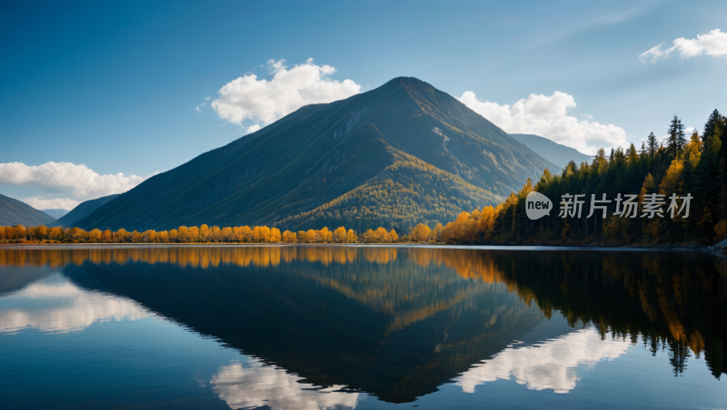
{"label": "dark conifer and golden treeline on the right shore above the water", "polygon": [[[640,149],[633,144],[606,154],[599,150],[591,163],[571,161],[560,175],[545,170],[534,186],[528,180],[519,192],[497,207],[462,212],[447,224],[438,239],[450,243],[513,244],[665,244],[699,241],[712,243],[727,237],[727,175],[724,164],[727,119],[717,110],[704,125],[702,135],[689,139],[682,121],[674,116],[667,138],[660,143],[653,132]],[[529,220],[525,199],[538,191],[553,201],[549,217]],[[588,218],[591,195],[611,200],[607,216],[601,211]],[[639,197],[636,218],[613,216],[618,194]],[[668,197],[691,194],[688,218],[667,212]],[[561,218],[563,194],[585,194],[581,218]],[[642,218],[644,195],[663,194],[664,218]]]}

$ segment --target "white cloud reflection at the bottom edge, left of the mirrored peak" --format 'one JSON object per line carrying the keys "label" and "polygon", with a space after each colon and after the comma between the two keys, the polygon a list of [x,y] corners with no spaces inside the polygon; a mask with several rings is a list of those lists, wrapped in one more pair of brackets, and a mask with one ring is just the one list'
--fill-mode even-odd
{"label": "white cloud reflection at the bottom edge, left of the mirrored peak", "polygon": [[260,360],[220,366],[210,384],[230,408],[319,410],[355,408],[363,393],[340,392],[344,386],[316,388],[300,383],[303,377],[265,366]]}

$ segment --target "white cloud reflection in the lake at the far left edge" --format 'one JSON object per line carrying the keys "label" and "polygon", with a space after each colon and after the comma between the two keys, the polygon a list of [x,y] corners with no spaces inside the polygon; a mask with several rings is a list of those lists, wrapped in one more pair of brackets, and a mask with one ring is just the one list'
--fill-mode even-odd
{"label": "white cloud reflection in the lake at the far left edge", "polygon": [[136,320],[148,315],[134,300],[78,288],[59,273],[0,298],[0,332],[35,328],[67,333],[95,322]]}

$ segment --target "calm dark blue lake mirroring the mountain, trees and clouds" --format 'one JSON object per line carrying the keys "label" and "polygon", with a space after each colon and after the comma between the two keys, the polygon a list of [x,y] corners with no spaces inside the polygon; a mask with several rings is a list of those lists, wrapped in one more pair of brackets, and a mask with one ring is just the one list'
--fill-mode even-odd
{"label": "calm dark blue lake mirroring the mountain, trees and clouds", "polygon": [[0,249],[0,408],[727,408],[727,261]]}

